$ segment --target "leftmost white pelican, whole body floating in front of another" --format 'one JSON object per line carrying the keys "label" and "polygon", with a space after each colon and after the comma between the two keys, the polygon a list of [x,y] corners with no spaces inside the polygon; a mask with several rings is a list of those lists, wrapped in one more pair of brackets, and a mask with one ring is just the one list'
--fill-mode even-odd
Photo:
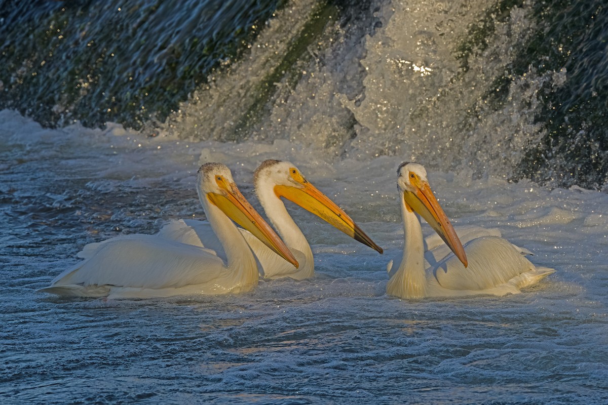
{"label": "leftmost white pelican, whole body floating in front of another", "polygon": [[156,235],[115,237],[88,245],[80,254],[86,259],[61,273],[42,291],[111,298],[249,291],[258,282],[257,263],[230,219],[260,238],[290,265],[298,266],[291,251],[243,197],[226,166],[206,163],[196,180],[199,199],[218,242],[217,250]]}

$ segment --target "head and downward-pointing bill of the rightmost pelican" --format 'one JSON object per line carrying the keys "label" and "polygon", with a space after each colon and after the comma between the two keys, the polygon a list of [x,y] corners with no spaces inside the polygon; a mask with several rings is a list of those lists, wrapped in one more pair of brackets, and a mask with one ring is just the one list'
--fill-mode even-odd
{"label": "head and downward-pointing bill of the rightmost pelican", "polygon": [[397,185],[407,210],[423,217],[466,267],[468,262],[465,250],[452,223],[430,189],[426,169],[418,163],[404,162],[399,165],[397,174]]}

